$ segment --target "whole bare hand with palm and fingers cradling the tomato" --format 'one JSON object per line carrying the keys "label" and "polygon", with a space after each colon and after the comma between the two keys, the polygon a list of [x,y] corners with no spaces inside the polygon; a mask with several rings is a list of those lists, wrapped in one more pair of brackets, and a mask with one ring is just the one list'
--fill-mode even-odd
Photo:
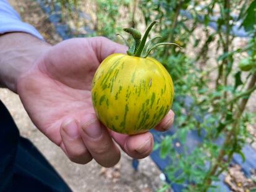
{"label": "whole bare hand with palm and fingers cradling the tomato", "polygon": [[[112,138],[129,156],[139,159],[150,154],[151,133],[127,136],[108,132],[92,115],[95,112],[90,90],[98,65],[108,55],[125,51],[126,47],[106,38],[63,41],[46,51],[32,69],[19,78],[17,92],[33,123],[74,162],[85,164],[94,158],[105,167],[113,166],[119,161],[120,152]],[[173,117],[170,111],[156,129],[166,130],[173,123]],[[68,119],[78,122],[80,128],[75,129],[80,136],[70,138],[63,132]],[[85,124],[100,129],[101,135],[88,136],[88,126],[83,128]]]}

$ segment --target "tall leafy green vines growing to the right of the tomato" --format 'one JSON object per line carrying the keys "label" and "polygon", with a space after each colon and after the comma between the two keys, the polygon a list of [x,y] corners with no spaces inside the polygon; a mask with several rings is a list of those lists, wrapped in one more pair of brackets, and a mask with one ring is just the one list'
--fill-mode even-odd
{"label": "tall leafy green vines growing to the right of the tomato", "polygon": [[[179,129],[173,136],[166,137],[158,147],[161,148],[162,157],[169,156],[173,159],[174,163],[166,170],[171,182],[185,185],[185,191],[214,189],[211,183],[218,180],[218,176],[228,169],[233,154],[239,153],[244,158],[241,149],[250,138],[246,125],[252,122],[253,118],[248,118],[249,112],[245,112],[245,106],[256,88],[255,70],[244,72],[233,64],[234,57],[242,52],[249,51],[252,56],[255,55],[255,39],[253,38],[245,48],[234,49],[234,35],[231,31],[242,19],[244,27],[250,27],[249,33],[254,33],[255,28],[251,26],[252,18],[255,18],[255,8],[252,8],[255,7],[255,1],[211,1],[207,6],[202,6],[202,1],[142,2],[141,9],[146,23],[152,17],[168,22],[169,25],[161,27],[165,38],[182,42],[184,47],[191,39],[194,39],[195,48],[202,44],[194,58],[186,56],[186,49],[177,51],[173,48],[166,50],[164,54],[155,51],[154,56],[161,58],[173,77],[176,98],[189,95],[193,99],[189,109],[177,99],[174,101],[173,108]],[[201,6],[197,7],[199,5]],[[189,11],[194,21],[189,23],[182,17],[181,9]],[[216,9],[220,9],[220,16],[216,20],[217,29],[210,31],[208,23],[211,17],[216,17]],[[239,12],[237,18],[231,16],[235,11]],[[157,14],[152,14],[154,12]],[[198,19],[202,16],[203,20]],[[186,22],[190,27],[187,27]],[[205,35],[205,40],[198,40],[193,34],[199,23],[204,24],[201,36]],[[207,55],[211,51],[209,46],[215,42],[216,56],[213,58],[216,59],[217,65],[211,66],[210,69],[195,65],[196,62],[208,61]],[[251,65],[254,62],[254,59],[250,60]],[[215,88],[209,88],[209,84],[214,80],[212,73],[217,73]],[[249,73],[245,80],[242,78],[244,73]],[[173,149],[173,141],[179,139],[184,146],[190,131],[198,131],[198,135],[203,133],[202,143],[194,149],[185,147],[184,153],[177,154]],[[217,138],[224,138],[221,147],[215,142]],[[177,173],[180,173],[178,177]]]}

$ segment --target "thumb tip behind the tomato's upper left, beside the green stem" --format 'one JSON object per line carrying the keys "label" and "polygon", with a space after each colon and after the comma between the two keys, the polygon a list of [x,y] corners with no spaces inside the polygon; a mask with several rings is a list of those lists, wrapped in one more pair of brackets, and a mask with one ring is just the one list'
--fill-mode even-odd
{"label": "thumb tip behind the tomato's upper left, beside the green stem", "polygon": [[126,53],[128,49],[127,46],[115,43],[103,36],[89,38],[88,40],[92,44],[92,48],[100,62],[113,53]]}

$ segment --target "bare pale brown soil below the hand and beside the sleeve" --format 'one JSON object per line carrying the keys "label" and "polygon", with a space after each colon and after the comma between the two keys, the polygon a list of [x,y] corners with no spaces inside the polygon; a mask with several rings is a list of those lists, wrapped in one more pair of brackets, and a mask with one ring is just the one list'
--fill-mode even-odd
{"label": "bare pale brown soil below the hand and beside the sleeve", "polygon": [[[33,0],[9,0],[19,12],[24,22],[31,23],[51,44],[61,41],[48,22],[47,16]],[[33,125],[20,102],[19,96],[7,89],[0,89],[0,99],[9,109],[20,135],[29,138],[59,172],[73,191],[113,192],[113,191],[156,191],[163,185],[160,170],[150,157],[140,160],[139,171],[132,168],[132,158],[122,153],[121,161],[113,168],[105,169],[95,161],[87,165],[75,164],[64,152],[46,138]]]}

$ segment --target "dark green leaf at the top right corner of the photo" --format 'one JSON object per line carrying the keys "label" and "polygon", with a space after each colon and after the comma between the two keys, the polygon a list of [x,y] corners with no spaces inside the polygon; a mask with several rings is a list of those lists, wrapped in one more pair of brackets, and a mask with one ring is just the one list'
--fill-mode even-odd
{"label": "dark green leaf at the top right corner of the photo", "polygon": [[242,22],[242,26],[244,27],[245,31],[252,31],[254,30],[255,19],[256,19],[256,0],[254,0],[249,8],[247,9],[247,15]]}

